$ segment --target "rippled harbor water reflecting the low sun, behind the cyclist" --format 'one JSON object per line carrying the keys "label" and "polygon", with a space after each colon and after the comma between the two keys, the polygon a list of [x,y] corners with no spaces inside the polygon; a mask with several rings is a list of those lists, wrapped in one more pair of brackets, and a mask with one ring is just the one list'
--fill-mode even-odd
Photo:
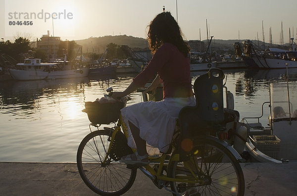
{"label": "rippled harbor water reflecting the low sun, behind the cyclist", "polygon": [[[192,72],[192,83],[204,73]],[[269,81],[286,76],[284,69],[224,73],[241,119],[261,116],[262,103],[269,101]],[[102,97],[107,87],[124,90],[135,76],[0,82],[0,161],[75,162],[77,148],[90,132],[87,114],[81,112],[85,102]],[[297,78],[297,70],[289,69],[289,77]],[[130,97],[127,105],[142,101],[141,93]],[[266,105],[263,126],[268,116]]]}

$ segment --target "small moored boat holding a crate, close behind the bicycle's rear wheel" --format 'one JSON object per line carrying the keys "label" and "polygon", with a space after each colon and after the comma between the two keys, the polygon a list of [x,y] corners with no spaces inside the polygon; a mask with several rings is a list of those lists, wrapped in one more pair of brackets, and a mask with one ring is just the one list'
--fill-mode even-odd
{"label": "small moored boat holding a crate, close behind the bicycle's rear wheel", "polygon": [[[243,118],[249,130],[246,150],[251,162],[297,161],[297,89],[296,80],[269,83],[269,101],[262,104],[262,115]],[[269,123],[264,127],[263,106],[269,108]],[[250,122],[250,120],[255,120]]]}

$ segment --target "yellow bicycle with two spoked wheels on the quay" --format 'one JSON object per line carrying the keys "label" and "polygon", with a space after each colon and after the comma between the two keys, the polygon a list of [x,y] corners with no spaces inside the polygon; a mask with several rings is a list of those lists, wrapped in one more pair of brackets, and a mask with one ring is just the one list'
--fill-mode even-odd
{"label": "yellow bicycle with two spoked wheels on the quay", "polygon": [[149,164],[143,167],[119,162],[121,157],[136,150],[127,145],[128,130],[121,115],[113,128],[99,130],[93,123],[97,130],[92,131],[90,125],[91,133],[82,140],[77,152],[77,166],[83,181],[101,196],[119,196],[131,188],[140,169],[156,187],[174,196],[182,196],[191,188],[200,196],[243,196],[245,180],[239,164],[241,156],[230,144],[216,137],[222,133],[221,127],[212,129],[215,134],[200,131],[186,139],[185,120],[180,119],[180,122],[170,144],[171,150],[149,156]]}

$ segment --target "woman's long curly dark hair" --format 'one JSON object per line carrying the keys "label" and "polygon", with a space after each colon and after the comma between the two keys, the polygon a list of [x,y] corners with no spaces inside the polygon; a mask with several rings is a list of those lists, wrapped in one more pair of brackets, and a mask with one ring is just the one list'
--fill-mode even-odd
{"label": "woman's long curly dark hair", "polygon": [[172,43],[186,57],[190,52],[188,44],[183,40],[183,34],[170,12],[158,14],[148,25],[148,43],[151,53],[163,43]]}

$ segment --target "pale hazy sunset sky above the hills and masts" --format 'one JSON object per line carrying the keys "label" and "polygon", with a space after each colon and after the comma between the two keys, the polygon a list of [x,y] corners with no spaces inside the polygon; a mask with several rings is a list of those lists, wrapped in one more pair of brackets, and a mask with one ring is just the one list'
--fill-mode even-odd
{"label": "pale hazy sunset sky above the hills and masts", "polygon": [[[201,39],[207,39],[206,19],[214,39],[257,39],[258,33],[263,40],[262,21],[265,42],[271,27],[273,43],[280,43],[282,22],[285,43],[289,28],[291,37],[297,36],[297,0],[0,0],[0,5],[3,40],[16,35],[36,40],[48,30],[62,40],[108,35],[146,38],[147,26],[162,6],[178,20],[187,40],[199,39],[199,29]],[[13,25],[13,21],[32,21],[32,25]]]}

